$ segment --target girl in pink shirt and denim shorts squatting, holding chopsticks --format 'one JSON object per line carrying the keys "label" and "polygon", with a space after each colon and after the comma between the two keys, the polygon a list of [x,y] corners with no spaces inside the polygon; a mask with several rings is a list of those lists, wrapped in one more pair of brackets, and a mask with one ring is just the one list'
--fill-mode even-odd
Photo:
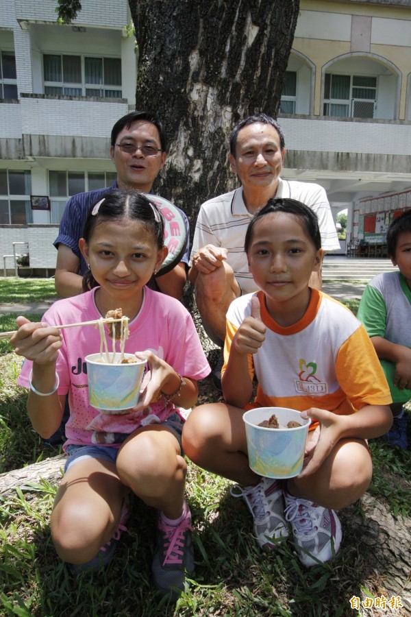
{"label": "girl in pink shirt and denim shorts squatting, holding chopsticks", "polygon": [[[146,287],[166,257],[163,237],[162,215],[142,193],[118,190],[101,199],[79,241],[90,264],[84,281],[89,291],[55,302],[41,323],[18,317],[11,343],[27,359],[18,383],[30,388],[27,410],[42,437],[60,425],[69,396],[69,457],[51,514],[58,555],[75,572],[107,564],[136,495],[158,510],[154,584],[175,595],[186,589],[185,571],[194,569],[184,499],[184,417],[175,405],[195,404],[197,380],[210,367],[184,306]],[[120,307],[129,317],[125,351],[145,359],[149,374],[136,407],[102,415],[88,402],[84,361],[99,351],[98,331],[54,324],[99,319]]]}

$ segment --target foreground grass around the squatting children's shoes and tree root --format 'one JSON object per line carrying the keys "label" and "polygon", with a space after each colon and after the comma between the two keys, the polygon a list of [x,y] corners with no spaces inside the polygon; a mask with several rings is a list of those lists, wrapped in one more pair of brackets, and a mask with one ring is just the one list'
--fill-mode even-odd
{"label": "foreground grass around the squatting children's shoes and tree root", "polygon": [[[2,319],[3,330],[14,327]],[[15,354],[0,356],[0,472],[60,452],[45,448],[29,424],[27,394],[16,387],[20,363]],[[201,385],[201,402],[214,399],[208,378]],[[409,517],[411,452],[389,448],[382,439],[371,441],[371,450],[375,472],[369,493],[398,518]],[[127,524],[129,535],[123,533],[110,566],[92,577],[73,577],[51,541],[49,519],[56,486],[36,479],[31,487],[0,498],[1,617],[371,614],[349,605],[352,596],[379,596],[384,590],[384,579],[373,569],[375,546],[363,541],[366,513],[359,503],[341,513],[345,535],[336,558],[306,570],[290,542],[275,552],[261,553],[253,540],[249,510],[242,499],[229,495],[230,484],[188,462],[196,573],[190,591],[173,605],[164,605],[151,586],[154,517],[139,500]],[[398,590],[400,596],[403,593]]]}

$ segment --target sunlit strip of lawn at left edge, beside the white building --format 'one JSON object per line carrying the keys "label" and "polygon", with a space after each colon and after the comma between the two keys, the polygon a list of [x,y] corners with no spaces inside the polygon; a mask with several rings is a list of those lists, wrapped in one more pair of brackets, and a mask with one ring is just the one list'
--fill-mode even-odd
{"label": "sunlit strip of lawn at left edge, beside the white building", "polygon": [[54,278],[0,278],[0,298],[2,304],[11,302],[45,302],[57,300]]}

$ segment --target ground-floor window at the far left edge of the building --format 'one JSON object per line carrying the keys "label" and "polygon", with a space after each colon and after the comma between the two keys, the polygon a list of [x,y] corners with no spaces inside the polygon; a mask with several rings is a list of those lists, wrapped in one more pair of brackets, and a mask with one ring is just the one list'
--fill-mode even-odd
{"label": "ground-floor window at the far left edge of the building", "polygon": [[0,169],[1,225],[32,223],[31,192],[32,179],[29,171]]}

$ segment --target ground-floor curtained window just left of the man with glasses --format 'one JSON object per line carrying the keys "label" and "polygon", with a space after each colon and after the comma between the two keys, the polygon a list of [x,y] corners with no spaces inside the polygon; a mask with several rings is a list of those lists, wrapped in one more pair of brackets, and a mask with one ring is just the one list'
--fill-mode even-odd
{"label": "ground-floor curtained window just left of the man with glasses", "polygon": [[95,191],[112,186],[115,171],[49,171],[51,223],[60,223],[67,199],[84,191]]}

